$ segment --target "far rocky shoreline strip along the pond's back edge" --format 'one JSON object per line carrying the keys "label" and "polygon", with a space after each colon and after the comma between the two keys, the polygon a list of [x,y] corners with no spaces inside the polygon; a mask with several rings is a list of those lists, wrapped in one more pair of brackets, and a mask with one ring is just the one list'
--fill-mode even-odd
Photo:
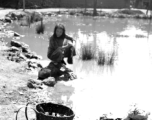
{"label": "far rocky shoreline strip along the pond's back edge", "polygon": [[[45,16],[57,16],[57,15],[72,15],[72,16],[93,16],[93,10],[63,10],[63,11],[29,11],[26,10],[23,12],[22,10],[12,11],[6,14],[4,19],[1,21],[11,23],[13,20],[26,20],[27,18],[31,18],[33,22],[40,21]],[[151,19],[151,15],[146,15],[141,10],[132,10],[132,9],[120,9],[113,12],[106,11],[97,11],[96,16],[93,17],[102,17],[102,18],[135,18],[135,19]],[[21,23],[21,25],[27,25],[25,23]]]}

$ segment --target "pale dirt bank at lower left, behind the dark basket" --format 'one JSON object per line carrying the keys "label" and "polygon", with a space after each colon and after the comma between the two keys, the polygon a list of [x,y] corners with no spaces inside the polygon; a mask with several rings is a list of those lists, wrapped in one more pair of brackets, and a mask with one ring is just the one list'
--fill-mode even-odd
{"label": "pale dirt bank at lower left, behind the dark basket", "polygon": [[[27,86],[28,80],[36,80],[37,75],[26,69],[26,62],[15,63],[7,60],[4,51],[7,47],[3,45],[3,42],[0,42],[0,48],[0,120],[15,120],[17,110],[20,107],[25,107],[28,102],[32,102],[34,106],[41,102],[50,101],[61,104],[65,102],[67,106],[70,105],[66,100],[61,99],[63,94],[57,92],[63,91],[61,87],[58,89],[58,86],[48,87],[42,85],[42,89],[29,88]],[[65,94],[67,94],[66,91]],[[34,107],[33,104],[32,107]],[[24,110],[19,113],[19,120],[25,120]],[[29,110],[28,113],[29,118],[33,120],[35,118],[34,112]]]}

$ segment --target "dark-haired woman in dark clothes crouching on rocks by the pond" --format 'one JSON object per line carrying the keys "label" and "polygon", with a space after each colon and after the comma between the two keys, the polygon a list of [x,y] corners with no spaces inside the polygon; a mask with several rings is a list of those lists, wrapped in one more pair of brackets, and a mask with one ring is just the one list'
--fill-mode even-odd
{"label": "dark-haired woman in dark clothes crouching on rocks by the pond", "polygon": [[[66,40],[65,40],[66,39]],[[73,64],[73,56],[76,55],[73,45],[74,39],[66,35],[65,27],[62,24],[57,24],[54,28],[53,35],[49,38],[49,47],[47,57],[53,63],[64,63],[64,57],[67,57],[67,62]]]}

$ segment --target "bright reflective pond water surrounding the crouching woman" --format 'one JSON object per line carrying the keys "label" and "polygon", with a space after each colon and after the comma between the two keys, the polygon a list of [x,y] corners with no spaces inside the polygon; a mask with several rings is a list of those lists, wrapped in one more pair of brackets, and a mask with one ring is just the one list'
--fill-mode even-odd
{"label": "bright reflective pond water surrounding the crouching woman", "polygon": [[[120,115],[123,108],[134,102],[151,110],[148,107],[152,104],[149,95],[152,79],[152,23],[149,20],[57,16],[44,19],[44,35],[36,34],[35,25],[31,28],[20,27],[14,22],[11,29],[25,35],[19,41],[27,43],[32,51],[48,60],[48,36],[57,22],[64,23],[66,33],[77,41],[75,47],[78,55],[69,67],[78,76],[87,78],[75,83],[82,91],[84,87],[88,88],[73,97],[79,114],[92,115],[94,118],[110,109]],[[91,43],[94,49],[102,49],[106,53],[115,51],[114,66],[98,66],[96,61],[79,60],[81,43]],[[94,110],[95,114],[92,113]]]}

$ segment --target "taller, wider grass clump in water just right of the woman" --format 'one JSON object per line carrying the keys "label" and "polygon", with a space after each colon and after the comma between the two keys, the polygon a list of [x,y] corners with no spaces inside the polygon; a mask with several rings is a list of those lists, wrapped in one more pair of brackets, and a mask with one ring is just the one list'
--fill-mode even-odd
{"label": "taller, wider grass clump in water just right of the woman", "polygon": [[92,60],[95,58],[95,51],[91,44],[81,46],[81,57],[82,60]]}

